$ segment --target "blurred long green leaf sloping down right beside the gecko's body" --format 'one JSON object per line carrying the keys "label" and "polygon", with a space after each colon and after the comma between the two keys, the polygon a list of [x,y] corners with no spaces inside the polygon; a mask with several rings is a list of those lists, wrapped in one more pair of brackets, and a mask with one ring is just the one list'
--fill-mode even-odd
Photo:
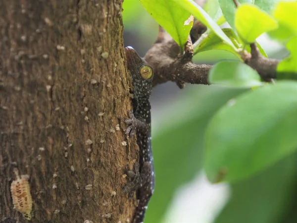
{"label": "blurred long green leaf sloping down right beside the gecko's body", "polygon": [[152,121],[156,179],[145,223],[160,223],[176,190],[197,175],[202,167],[207,122],[230,98],[242,92],[242,89],[199,85],[177,98],[159,121]]}

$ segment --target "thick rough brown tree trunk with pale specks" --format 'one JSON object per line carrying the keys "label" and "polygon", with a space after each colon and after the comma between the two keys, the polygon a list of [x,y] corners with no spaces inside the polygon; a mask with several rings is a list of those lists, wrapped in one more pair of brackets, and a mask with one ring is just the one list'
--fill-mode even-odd
{"label": "thick rough brown tree trunk with pale specks", "polygon": [[0,222],[27,222],[14,168],[30,176],[31,222],[131,219],[121,11],[122,0],[0,0]]}

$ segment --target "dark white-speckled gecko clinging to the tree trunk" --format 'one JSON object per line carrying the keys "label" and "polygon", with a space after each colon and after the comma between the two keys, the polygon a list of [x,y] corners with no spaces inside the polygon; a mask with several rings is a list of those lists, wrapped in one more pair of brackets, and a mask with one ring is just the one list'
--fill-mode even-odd
{"label": "dark white-speckled gecko clinging to the tree trunk", "polygon": [[133,194],[137,191],[139,200],[133,223],[143,223],[149,199],[154,190],[154,169],[151,152],[150,134],[150,94],[152,89],[152,67],[140,57],[132,47],[126,47],[128,69],[132,75],[133,111],[129,111],[126,134],[130,137],[136,133],[139,146],[139,164],[134,165],[134,171],[128,171],[133,180],[126,184],[124,192]]}

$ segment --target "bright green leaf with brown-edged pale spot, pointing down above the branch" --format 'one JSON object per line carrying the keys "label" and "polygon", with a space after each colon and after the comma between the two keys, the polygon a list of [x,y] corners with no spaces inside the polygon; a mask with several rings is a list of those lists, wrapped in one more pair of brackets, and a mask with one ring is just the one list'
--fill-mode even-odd
{"label": "bright green leaf with brown-edged pale spot, pointing down above the branch", "polygon": [[148,13],[184,48],[193,25],[191,13],[174,0],[140,0]]}

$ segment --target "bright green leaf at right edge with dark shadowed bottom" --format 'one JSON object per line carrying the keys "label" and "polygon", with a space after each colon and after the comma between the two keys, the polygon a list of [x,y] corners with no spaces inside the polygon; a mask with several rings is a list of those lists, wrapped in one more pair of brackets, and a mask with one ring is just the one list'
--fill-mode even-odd
{"label": "bright green leaf at right edge with dark shadowed bottom", "polygon": [[277,66],[278,79],[297,79],[297,36],[292,38],[287,49],[291,55],[283,59]]}

